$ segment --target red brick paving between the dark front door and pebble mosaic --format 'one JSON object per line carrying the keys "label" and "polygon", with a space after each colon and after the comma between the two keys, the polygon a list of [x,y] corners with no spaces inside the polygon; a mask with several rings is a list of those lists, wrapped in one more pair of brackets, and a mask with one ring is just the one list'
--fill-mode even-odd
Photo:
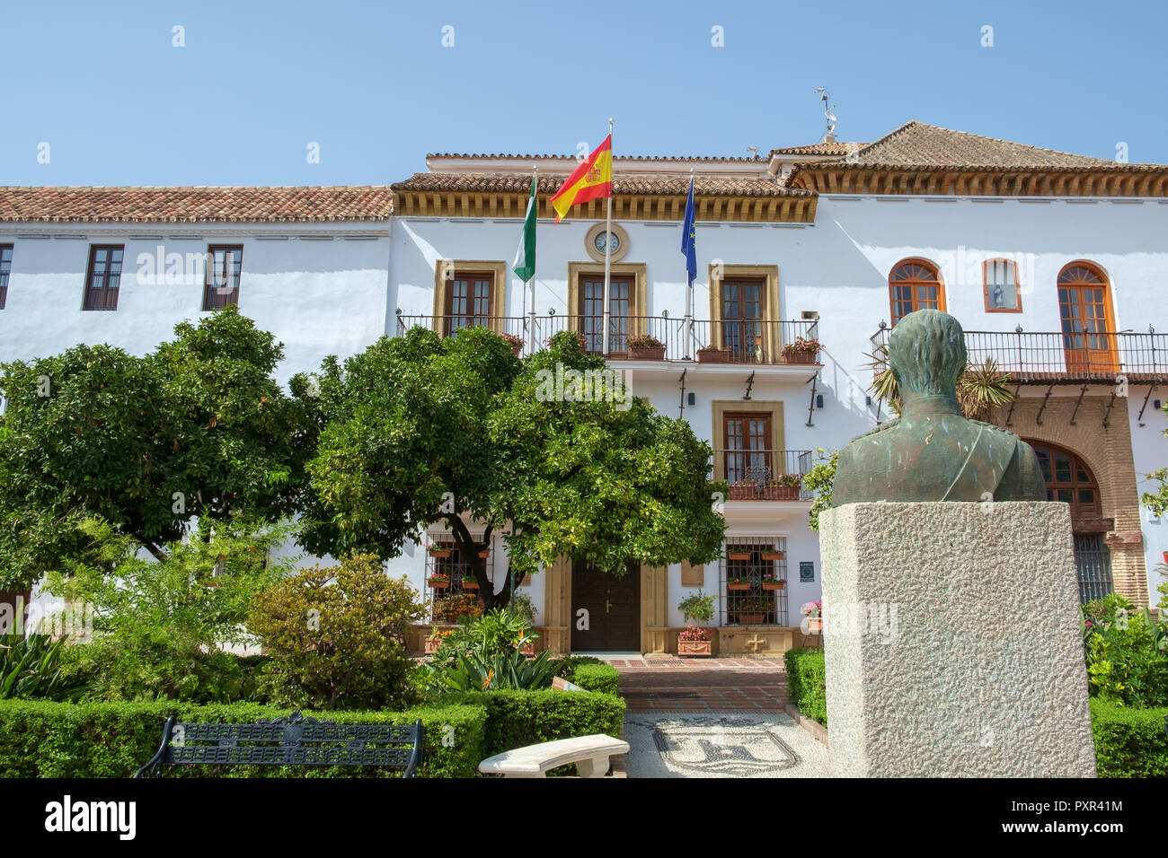
{"label": "red brick paving between the dark front door and pebble mosaic", "polygon": [[777,658],[605,658],[634,712],[783,712],[787,677]]}

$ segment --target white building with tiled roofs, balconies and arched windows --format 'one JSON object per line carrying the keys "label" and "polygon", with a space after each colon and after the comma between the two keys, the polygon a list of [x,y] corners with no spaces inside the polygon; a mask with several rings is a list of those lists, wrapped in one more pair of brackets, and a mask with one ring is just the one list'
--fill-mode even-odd
{"label": "white building with tiled roofs, balconies and arched windows", "polygon": [[[510,260],[536,165],[529,291]],[[559,224],[548,203],[575,166],[432,155],[429,172],[392,186],[392,212],[385,188],[0,190],[0,249],[11,251],[0,250],[11,258],[0,360],[102,340],[145,351],[215,300],[237,300],[285,343],[285,377],[419,323],[444,334],[485,323],[528,348],[569,328],[599,350],[604,201]],[[700,265],[687,325],[690,170]],[[888,417],[869,400],[868,355],[899,315],[923,307],[958,318],[971,361],[994,357],[1011,374],[1017,399],[995,419],[1038,449],[1051,495],[1071,503],[1084,598],[1114,588],[1155,601],[1168,525],[1138,498],[1154,489],[1143,475],[1168,463],[1168,333],[1153,333],[1168,332],[1157,300],[1168,167],[910,123],[874,144],[828,140],[765,160],[617,158],[613,217],[610,360],[631,370],[634,395],[682,413],[714,447],[715,475],[732,483],[726,559],[642,568],[606,595],[557,564],[528,585],[549,646],[674,650],[676,605],[698,587],[718,597],[722,653],[801,642],[799,606],[819,598],[821,574],[809,500],[765,483]],[[109,300],[93,284],[110,245],[123,249],[117,311],[86,311],[86,300]],[[201,274],[138,275],[151,257],[157,273],[160,252],[169,268],[169,254],[188,250],[217,252],[218,273],[238,259],[237,282],[206,291]],[[663,357],[634,355],[627,340],[638,334],[662,341]],[[822,342],[819,363],[784,354],[799,336]],[[440,528],[431,536],[440,540]],[[424,590],[432,563],[410,547],[389,566]],[[783,590],[760,588],[766,571]],[[729,590],[735,576],[751,588]],[[576,634],[575,608],[612,595],[637,609],[593,623],[586,640]]]}

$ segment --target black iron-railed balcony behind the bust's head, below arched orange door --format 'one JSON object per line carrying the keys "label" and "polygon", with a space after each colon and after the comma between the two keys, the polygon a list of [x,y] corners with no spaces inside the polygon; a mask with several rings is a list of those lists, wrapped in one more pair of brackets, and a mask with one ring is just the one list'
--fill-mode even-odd
{"label": "black iron-railed balcony behind the bust's head, below arched orange door", "polygon": [[[871,354],[888,346],[891,328],[881,327],[871,337]],[[1168,334],[1132,333],[1013,333],[965,332],[971,364],[987,357],[1021,384],[1114,384],[1168,381]]]}

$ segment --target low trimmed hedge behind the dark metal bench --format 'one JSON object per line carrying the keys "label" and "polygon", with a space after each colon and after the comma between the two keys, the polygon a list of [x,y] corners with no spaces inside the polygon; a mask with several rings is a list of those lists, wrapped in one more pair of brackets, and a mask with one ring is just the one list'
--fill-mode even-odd
{"label": "low trimmed hedge behind the dark metal bench", "polygon": [[[172,703],[0,700],[0,777],[128,777],[150,760],[171,714],[188,723],[248,724],[287,710],[250,703],[186,706]],[[484,753],[486,710],[451,705],[402,712],[324,712],[338,724],[413,724],[422,719],[425,752],[419,777],[471,777]],[[445,727],[454,741],[444,742]],[[447,747],[449,745],[449,747]],[[333,766],[167,766],[180,777],[392,777],[401,770]]]}

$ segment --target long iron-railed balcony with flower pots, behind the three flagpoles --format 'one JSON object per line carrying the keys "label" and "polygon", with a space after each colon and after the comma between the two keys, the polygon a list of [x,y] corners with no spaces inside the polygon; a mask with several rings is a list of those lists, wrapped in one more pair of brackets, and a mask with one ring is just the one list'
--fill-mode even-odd
{"label": "long iron-railed balcony with flower pots, behind the three flagpoles", "polygon": [[[660,316],[619,316],[610,319],[610,361],[676,361],[702,364],[792,365],[815,368],[809,353],[784,354],[784,347],[797,339],[816,336],[816,320],[766,321],[684,319]],[[583,335],[586,351],[600,354],[604,348],[603,316],[429,316],[397,315],[397,334],[423,327],[442,336],[454,336],[463,328],[485,326],[499,334],[523,340],[522,354],[543,349],[552,335],[575,330]],[[534,327],[533,327],[534,326]],[[663,348],[638,349],[630,346],[635,336],[652,336]]]}

